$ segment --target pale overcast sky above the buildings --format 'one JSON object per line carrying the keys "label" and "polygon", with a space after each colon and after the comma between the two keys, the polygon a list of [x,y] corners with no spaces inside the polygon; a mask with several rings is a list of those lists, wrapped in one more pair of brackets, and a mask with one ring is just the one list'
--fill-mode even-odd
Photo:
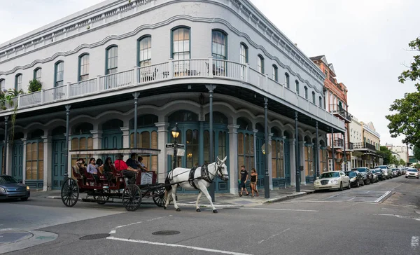
{"label": "pale overcast sky above the buildings", "polygon": [[[0,0],[0,43],[102,0]],[[308,57],[325,55],[348,90],[349,112],[372,121],[381,144],[401,144],[388,132],[389,106],[414,83],[398,76],[420,35],[419,0],[251,0]]]}

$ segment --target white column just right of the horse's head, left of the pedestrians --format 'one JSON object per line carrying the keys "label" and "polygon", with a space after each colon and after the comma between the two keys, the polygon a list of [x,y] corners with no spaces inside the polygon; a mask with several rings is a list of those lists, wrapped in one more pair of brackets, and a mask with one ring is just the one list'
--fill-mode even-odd
{"label": "white column just right of the horse's head, left of the pedestrians", "polygon": [[239,125],[228,125],[230,193],[238,193],[238,130]]}

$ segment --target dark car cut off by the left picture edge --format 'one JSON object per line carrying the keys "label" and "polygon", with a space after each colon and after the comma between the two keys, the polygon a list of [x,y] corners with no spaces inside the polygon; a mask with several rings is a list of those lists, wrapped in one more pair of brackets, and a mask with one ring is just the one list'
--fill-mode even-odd
{"label": "dark car cut off by the left picture edge", "polygon": [[0,200],[18,199],[28,200],[31,196],[29,186],[22,184],[10,175],[0,175]]}

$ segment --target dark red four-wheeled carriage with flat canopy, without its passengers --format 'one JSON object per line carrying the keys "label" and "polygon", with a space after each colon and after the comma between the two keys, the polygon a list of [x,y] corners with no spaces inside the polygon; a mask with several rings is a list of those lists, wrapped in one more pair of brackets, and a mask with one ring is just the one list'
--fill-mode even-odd
{"label": "dark red four-wheeled carriage with flat canopy, without its passengers", "polygon": [[[158,155],[157,149],[99,149],[99,150],[80,150],[69,151],[69,155],[128,155],[136,153],[138,155]],[[87,172],[84,168],[76,171],[71,167],[71,178],[67,178],[61,190],[61,197],[64,205],[72,207],[79,200],[80,193],[85,193],[83,202],[97,202],[104,205],[106,202],[121,201],[127,211],[136,211],[141,205],[142,198],[153,198],[153,202],[158,207],[165,205],[165,184],[158,183],[155,171],[138,172],[135,183],[129,184],[129,179],[123,173],[116,171],[115,168],[109,174],[97,172],[97,178]]]}

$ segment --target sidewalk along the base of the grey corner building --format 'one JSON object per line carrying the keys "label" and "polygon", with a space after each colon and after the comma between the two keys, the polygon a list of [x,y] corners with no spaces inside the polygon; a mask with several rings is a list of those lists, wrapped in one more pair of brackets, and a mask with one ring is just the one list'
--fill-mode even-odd
{"label": "sidewalk along the base of the grey corner building", "polygon": [[[249,191],[249,190],[248,190]],[[307,195],[308,193],[314,193],[313,185],[301,185],[300,192],[296,192],[295,187],[286,187],[280,188],[278,190],[273,190],[269,192],[269,198],[265,198],[265,193],[263,189],[259,189],[259,196],[254,198],[251,197],[251,192],[249,195],[239,197],[239,194],[230,194],[230,193],[216,193],[214,205],[218,208],[223,207],[252,207],[257,205],[262,205],[265,203],[271,202],[280,202],[284,200],[290,200],[293,198],[298,198],[302,195]],[[36,191],[31,193],[31,197],[34,198],[50,198],[50,199],[61,199],[60,191]],[[80,194],[80,197],[85,197],[85,194]],[[193,206],[195,207],[195,201],[197,200],[197,193],[177,193],[177,202],[180,207],[182,206]],[[141,203],[144,204],[154,204],[151,199],[145,199]],[[171,205],[173,203],[171,202]],[[200,207],[210,207],[209,200],[203,195],[200,199]]]}

